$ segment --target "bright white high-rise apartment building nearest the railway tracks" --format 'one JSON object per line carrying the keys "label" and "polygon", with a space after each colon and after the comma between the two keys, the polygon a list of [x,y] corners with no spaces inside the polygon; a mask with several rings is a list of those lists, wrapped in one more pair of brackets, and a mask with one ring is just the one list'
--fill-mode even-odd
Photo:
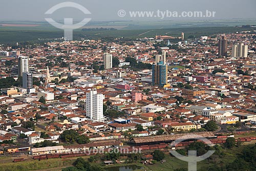
{"label": "bright white high-rise apartment building nearest the railway tracks", "polygon": [[97,94],[96,89],[90,90],[86,93],[86,113],[93,121],[104,121],[103,116],[103,99],[105,96],[103,94]]}

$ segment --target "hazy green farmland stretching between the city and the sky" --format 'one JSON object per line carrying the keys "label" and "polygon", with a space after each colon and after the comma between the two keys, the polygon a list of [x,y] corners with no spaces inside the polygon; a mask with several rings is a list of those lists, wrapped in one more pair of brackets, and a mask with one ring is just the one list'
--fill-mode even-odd
{"label": "hazy green farmland stretching between the city and the sky", "polygon": [[[159,21],[160,22],[160,21]],[[124,22],[125,23],[125,22]],[[154,25],[155,22],[151,23]],[[161,24],[163,22],[161,21]],[[13,24],[13,23],[10,23]],[[22,24],[22,23],[20,23]],[[23,23],[24,24],[24,23]],[[16,42],[26,42],[26,41],[53,41],[56,38],[63,37],[63,30],[56,29],[47,23],[26,23],[26,24],[36,24],[38,26],[20,27],[14,26],[1,26],[0,22],[0,43],[10,43],[14,44]],[[100,25],[97,23],[97,27],[109,27],[114,28],[116,23],[109,23],[109,25]],[[116,26],[123,25],[122,22],[118,22]],[[89,25],[93,27],[94,25]],[[88,26],[88,27],[89,27]],[[169,26],[169,29],[166,27]],[[213,35],[218,33],[234,33],[237,31],[252,30],[252,28],[238,28],[238,27],[214,27],[214,26],[200,26],[189,25],[183,26],[178,25],[180,28],[175,28],[173,25],[167,25],[166,27],[160,27],[162,29],[148,29],[152,28],[151,26],[143,25],[143,27],[137,27],[136,25],[126,25],[126,27],[120,30],[111,30],[111,31],[96,31],[96,30],[87,30],[82,31],[77,29],[74,31],[74,40],[84,39],[100,39],[104,37],[114,37],[114,38],[143,38],[143,37],[155,37],[156,35],[167,35],[173,37],[181,36],[181,32],[184,32],[185,39],[189,36],[199,37],[202,35]],[[222,25],[221,25],[222,26]],[[142,29],[141,29],[142,28]],[[146,29],[147,28],[147,29]]]}

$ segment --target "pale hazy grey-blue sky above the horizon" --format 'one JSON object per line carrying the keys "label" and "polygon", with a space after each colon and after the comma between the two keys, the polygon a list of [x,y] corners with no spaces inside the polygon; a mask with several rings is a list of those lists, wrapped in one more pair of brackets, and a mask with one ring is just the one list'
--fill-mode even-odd
{"label": "pale hazy grey-blue sky above the horizon", "polygon": [[[86,7],[91,14],[85,15],[74,8],[62,8],[51,15],[45,12],[62,2],[63,0],[0,0],[0,20],[34,20],[44,21],[46,17],[55,20],[63,18],[92,18],[92,21],[109,20],[161,20],[160,18],[132,18],[129,11],[216,11],[215,18],[208,19],[231,19],[252,18],[256,16],[255,0],[69,0]],[[117,12],[125,10],[126,16],[119,17]],[[174,18],[164,18],[174,19]],[[176,19],[176,18],[175,18]],[[183,18],[182,18],[183,19]],[[201,19],[201,18],[199,18]]]}

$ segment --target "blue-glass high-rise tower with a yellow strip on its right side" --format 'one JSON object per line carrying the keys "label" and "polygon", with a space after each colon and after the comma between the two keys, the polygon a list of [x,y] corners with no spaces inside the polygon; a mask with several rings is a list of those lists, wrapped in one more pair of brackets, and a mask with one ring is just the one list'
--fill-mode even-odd
{"label": "blue-glass high-rise tower with a yellow strip on its right side", "polygon": [[167,65],[160,61],[152,65],[152,84],[163,87],[167,82]]}

